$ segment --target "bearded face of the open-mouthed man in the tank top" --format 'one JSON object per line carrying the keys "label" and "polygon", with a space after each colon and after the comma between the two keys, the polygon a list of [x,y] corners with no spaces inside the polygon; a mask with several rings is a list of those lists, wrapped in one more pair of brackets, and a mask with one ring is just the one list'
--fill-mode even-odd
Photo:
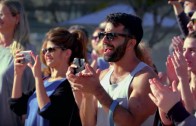
{"label": "bearded face of the open-mouthed man in the tank top", "polygon": [[108,62],[119,61],[126,52],[127,42],[125,41],[125,37],[117,35],[118,33],[126,34],[124,33],[123,28],[124,26],[122,25],[114,27],[112,23],[106,24],[105,35],[102,36],[102,41],[104,59]]}

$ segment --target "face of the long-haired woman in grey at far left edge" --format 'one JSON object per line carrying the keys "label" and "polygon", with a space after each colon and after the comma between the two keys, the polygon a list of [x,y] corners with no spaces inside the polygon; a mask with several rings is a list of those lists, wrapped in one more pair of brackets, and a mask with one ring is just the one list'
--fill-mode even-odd
{"label": "face of the long-haired woman in grey at far left edge", "polygon": [[18,16],[12,16],[9,8],[0,4],[0,31],[14,32],[17,24]]}

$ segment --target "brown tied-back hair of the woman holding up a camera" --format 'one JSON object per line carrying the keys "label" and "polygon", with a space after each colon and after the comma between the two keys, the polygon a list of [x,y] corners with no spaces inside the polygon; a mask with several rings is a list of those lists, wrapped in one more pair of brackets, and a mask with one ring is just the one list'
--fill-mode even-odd
{"label": "brown tied-back hair of the woman holding up a camera", "polygon": [[[49,30],[46,33],[43,41],[42,49],[46,48],[47,42],[52,42],[54,45],[61,47],[62,49],[70,49],[72,54],[69,59],[69,65],[73,62],[74,58],[86,58],[86,42],[85,35],[81,31],[74,31],[70,33],[67,29],[62,27],[56,27]],[[41,61],[46,65],[44,54],[40,52]],[[45,69],[46,71],[49,71]]]}

